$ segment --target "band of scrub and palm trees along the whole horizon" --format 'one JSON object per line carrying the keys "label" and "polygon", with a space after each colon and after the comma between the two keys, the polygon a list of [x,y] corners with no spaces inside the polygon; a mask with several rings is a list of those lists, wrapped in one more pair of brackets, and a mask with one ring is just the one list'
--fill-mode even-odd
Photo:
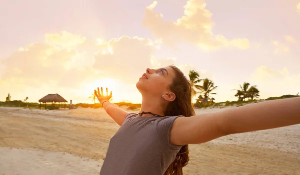
{"label": "band of scrub and palm trees along the whole horizon", "polygon": [[[237,97],[237,101],[226,101],[226,102],[219,102],[219,103],[214,103],[213,100],[214,98],[211,97],[213,91],[217,88],[217,86],[214,85],[212,80],[209,80],[208,78],[205,79],[199,79],[199,73],[190,70],[188,74],[190,84],[192,86],[192,95],[193,97],[199,94],[198,99],[196,100],[196,103],[194,103],[195,108],[213,108],[213,107],[218,107],[218,108],[223,108],[226,106],[242,106],[248,103],[257,103],[264,101],[262,99],[255,99],[259,97],[259,90],[255,85],[250,86],[250,83],[244,82],[241,85],[239,85],[240,89],[235,89],[236,94],[234,95]],[[201,83],[199,85],[199,83]],[[96,103],[96,96],[94,94],[91,94],[92,96],[88,97],[91,98],[94,104],[88,104],[88,103],[77,103],[73,104],[75,108],[82,107],[82,108],[102,108],[102,105],[100,103]],[[299,97],[299,93],[296,95],[282,95],[280,97],[269,97],[265,100],[275,100],[275,99],[284,99],[284,98],[292,98],[292,97]],[[11,101],[11,95],[8,93],[7,97],[5,98],[4,102],[0,101],[0,106],[4,107],[27,107],[27,108],[39,108],[39,103],[28,103],[27,102],[28,97],[26,97],[22,102],[21,100],[13,100]],[[114,103],[115,105],[121,107],[121,106],[126,106],[128,110],[136,110],[139,109],[141,104],[132,104],[128,102],[119,102],[119,103]],[[69,104],[65,105],[66,108],[69,108]],[[53,107],[48,104],[46,106],[47,109],[58,109],[58,105],[55,104]],[[64,104],[60,105],[60,108],[64,108]],[[45,109],[45,105],[41,105],[41,109]]]}

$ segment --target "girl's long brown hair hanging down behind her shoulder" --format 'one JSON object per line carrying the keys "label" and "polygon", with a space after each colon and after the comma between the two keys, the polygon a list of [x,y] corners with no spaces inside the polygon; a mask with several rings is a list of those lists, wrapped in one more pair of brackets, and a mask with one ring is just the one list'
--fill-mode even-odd
{"label": "girl's long brown hair hanging down behind her shoulder", "polygon": [[[175,71],[175,78],[169,86],[169,90],[176,95],[176,98],[167,105],[164,115],[194,116],[195,112],[192,106],[192,87],[190,82],[176,66],[170,65],[169,67]],[[168,167],[164,175],[183,175],[182,168],[187,165],[188,160],[188,145],[184,145],[181,147],[175,160]]]}

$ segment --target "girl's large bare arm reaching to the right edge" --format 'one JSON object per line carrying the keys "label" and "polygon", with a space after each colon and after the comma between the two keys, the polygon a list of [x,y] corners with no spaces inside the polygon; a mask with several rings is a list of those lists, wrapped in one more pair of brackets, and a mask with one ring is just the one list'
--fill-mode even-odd
{"label": "girl's large bare arm reaching to the right edge", "polygon": [[192,117],[178,117],[170,132],[174,145],[200,144],[229,134],[300,124],[300,98],[264,101]]}

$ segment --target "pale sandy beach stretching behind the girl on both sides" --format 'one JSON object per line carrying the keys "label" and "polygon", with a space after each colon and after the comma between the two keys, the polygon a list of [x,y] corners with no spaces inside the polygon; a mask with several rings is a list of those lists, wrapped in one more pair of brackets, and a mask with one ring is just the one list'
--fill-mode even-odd
{"label": "pale sandy beach stretching behind the girl on both sides", "polygon": [[[0,107],[0,175],[98,175],[118,128],[103,109]],[[184,175],[300,175],[300,125],[189,148]]]}

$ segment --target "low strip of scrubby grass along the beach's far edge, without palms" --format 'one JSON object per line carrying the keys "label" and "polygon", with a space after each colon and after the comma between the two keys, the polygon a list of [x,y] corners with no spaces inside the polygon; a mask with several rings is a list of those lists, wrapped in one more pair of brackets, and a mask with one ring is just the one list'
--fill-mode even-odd
{"label": "low strip of scrubby grass along the beach's far edge, without palms", "polygon": [[[282,95],[280,97],[269,97],[265,100],[276,100],[276,99],[284,99],[284,98],[292,98],[292,97],[300,97],[299,95]],[[247,101],[225,101],[225,102],[218,102],[218,103],[211,103],[208,102],[206,104],[203,103],[195,103],[194,107],[195,108],[224,108],[227,106],[243,106],[249,103],[258,103],[264,100],[247,100]],[[126,103],[126,102],[119,102],[119,103],[114,103],[117,106],[127,106],[128,110],[136,110],[139,109],[141,104],[134,104],[134,103]],[[39,103],[25,103],[22,102],[21,100],[13,100],[9,102],[0,102],[0,106],[3,107],[23,107],[26,108],[28,105],[28,108],[31,109],[39,109]],[[74,104],[75,108],[82,107],[82,108],[102,108],[102,105],[100,103],[95,103],[95,104],[88,104],[88,103],[77,103]],[[64,108],[64,104],[60,104],[60,108]],[[69,108],[69,104],[65,105],[65,108]],[[45,109],[45,105],[41,104],[41,109]],[[47,109],[52,109],[50,104],[47,104]],[[55,104],[54,109],[58,109],[58,104]]]}

